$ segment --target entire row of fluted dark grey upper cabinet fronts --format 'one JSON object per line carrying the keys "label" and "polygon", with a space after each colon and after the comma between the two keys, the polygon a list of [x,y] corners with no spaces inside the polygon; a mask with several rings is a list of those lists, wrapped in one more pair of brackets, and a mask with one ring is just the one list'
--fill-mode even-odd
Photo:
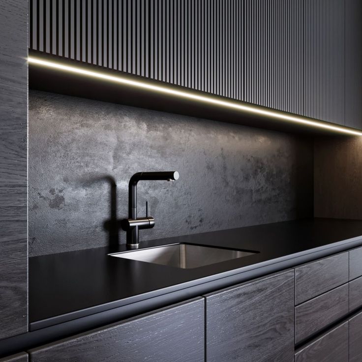
{"label": "entire row of fluted dark grey upper cabinet fronts", "polygon": [[360,0],[30,0],[30,49],[362,128],[361,16]]}

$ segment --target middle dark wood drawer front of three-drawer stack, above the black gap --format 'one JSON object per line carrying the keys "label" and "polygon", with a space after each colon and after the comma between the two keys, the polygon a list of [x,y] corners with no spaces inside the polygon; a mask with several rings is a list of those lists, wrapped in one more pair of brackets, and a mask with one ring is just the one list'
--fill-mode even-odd
{"label": "middle dark wood drawer front of three-drawer stack, above the black gap", "polygon": [[296,344],[348,314],[348,283],[296,306]]}

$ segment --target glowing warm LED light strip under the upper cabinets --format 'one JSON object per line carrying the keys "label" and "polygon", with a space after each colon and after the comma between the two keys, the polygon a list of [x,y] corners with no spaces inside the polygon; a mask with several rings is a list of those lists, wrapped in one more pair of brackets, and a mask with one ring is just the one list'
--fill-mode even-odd
{"label": "glowing warm LED light strip under the upper cabinets", "polygon": [[293,117],[293,116],[285,115],[285,114],[274,112],[274,111],[267,111],[265,109],[261,109],[258,107],[218,100],[218,99],[214,99],[214,98],[211,98],[208,96],[192,94],[187,91],[176,91],[171,88],[164,87],[164,86],[155,86],[155,85],[151,85],[148,83],[143,83],[141,81],[132,81],[129,79],[122,78],[120,76],[112,76],[112,75],[108,75],[108,74],[94,72],[91,70],[77,68],[75,66],[62,65],[62,64],[59,64],[59,63],[56,63],[53,61],[40,60],[40,59],[36,59],[33,57],[29,57],[28,60],[30,63],[33,63],[33,64],[43,65],[43,66],[54,68],[54,69],[65,70],[65,71],[68,71],[71,73],[83,74],[83,75],[87,75],[87,76],[90,76],[93,78],[104,79],[104,80],[117,82],[117,83],[125,84],[128,86],[132,86],[132,87],[138,87],[138,88],[148,89],[150,91],[157,91],[157,92],[161,92],[161,93],[172,94],[172,95],[176,95],[176,96],[179,96],[182,98],[197,100],[197,101],[204,102],[204,103],[216,104],[216,105],[227,107],[227,108],[239,109],[244,112],[250,112],[250,113],[254,113],[254,114],[259,114],[259,115],[263,115],[263,116],[268,116],[268,117],[277,118],[277,119],[281,119],[281,120],[285,120],[285,121],[291,121],[291,122],[300,123],[300,124],[306,124],[306,125],[313,126],[313,127],[325,128],[325,129],[329,129],[329,130],[336,131],[336,132],[343,132],[343,133],[362,136],[362,132],[359,132],[357,130],[333,126],[333,125],[322,123],[319,121],[305,120],[302,118]]}

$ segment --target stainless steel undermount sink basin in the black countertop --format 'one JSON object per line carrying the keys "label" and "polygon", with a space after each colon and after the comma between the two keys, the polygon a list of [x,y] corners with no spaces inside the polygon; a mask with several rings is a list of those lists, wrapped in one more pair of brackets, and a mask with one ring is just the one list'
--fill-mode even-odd
{"label": "stainless steel undermount sink basin in the black countertop", "polygon": [[231,259],[243,258],[252,254],[256,254],[256,252],[178,243],[109,255],[146,263],[193,269]]}

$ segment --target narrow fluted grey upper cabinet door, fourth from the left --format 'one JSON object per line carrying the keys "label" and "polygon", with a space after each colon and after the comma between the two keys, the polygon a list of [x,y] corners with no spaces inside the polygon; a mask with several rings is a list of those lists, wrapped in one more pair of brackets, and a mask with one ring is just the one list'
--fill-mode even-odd
{"label": "narrow fluted grey upper cabinet door, fourth from the left", "polygon": [[344,124],[345,0],[303,2],[305,116]]}

